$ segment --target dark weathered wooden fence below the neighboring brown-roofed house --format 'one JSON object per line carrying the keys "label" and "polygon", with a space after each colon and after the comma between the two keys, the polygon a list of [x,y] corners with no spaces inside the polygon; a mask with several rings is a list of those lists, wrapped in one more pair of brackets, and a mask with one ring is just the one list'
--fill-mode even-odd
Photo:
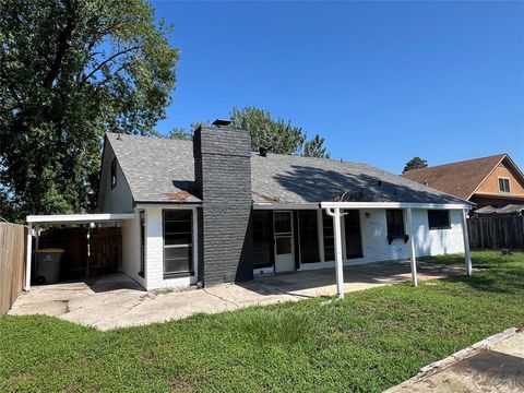
{"label": "dark weathered wooden fence below the neighboring brown-roofed house", "polygon": [[472,248],[524,248],[524,216],[487,216],[467,219]]}

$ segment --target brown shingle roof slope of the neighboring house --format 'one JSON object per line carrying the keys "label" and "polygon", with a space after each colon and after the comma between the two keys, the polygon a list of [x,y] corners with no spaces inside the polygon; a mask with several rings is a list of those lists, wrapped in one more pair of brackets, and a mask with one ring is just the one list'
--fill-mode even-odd
{"label": "brown shingle roof slope of the neighboring house", "polygon": [[420,183],[426,182],[431,188],[467,200],[505,156],[505,154],[497,154],[489,157],[414,169],[404,172],[402,176]]}

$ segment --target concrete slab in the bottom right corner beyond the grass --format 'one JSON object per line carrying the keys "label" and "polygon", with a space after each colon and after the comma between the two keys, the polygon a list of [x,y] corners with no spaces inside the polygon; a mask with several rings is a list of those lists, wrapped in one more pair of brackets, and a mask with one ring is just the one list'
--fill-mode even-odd
{"label": "concrete slab in the bottom right corner beyond the grass", "polygon": [[524,330],[509,329],[488,337],[386,391],[415,392],[524,392]]}

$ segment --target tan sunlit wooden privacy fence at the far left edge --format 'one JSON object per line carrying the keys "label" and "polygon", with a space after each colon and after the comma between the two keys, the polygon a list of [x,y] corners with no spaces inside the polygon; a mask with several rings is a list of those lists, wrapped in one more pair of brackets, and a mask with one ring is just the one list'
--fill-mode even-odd
{"label": "tan sunlit wooden privacy fence at the far left edge", "polygon": [[0,318],[24,286],[25,236],[23,225],[0,223]]}

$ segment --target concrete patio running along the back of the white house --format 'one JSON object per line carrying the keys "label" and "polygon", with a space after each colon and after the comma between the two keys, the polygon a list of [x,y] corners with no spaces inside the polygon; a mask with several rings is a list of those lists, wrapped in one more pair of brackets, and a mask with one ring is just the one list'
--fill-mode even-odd
{"label": "concrete patio running along the back of the white house", "polygon": [[[465,269],[419,263],[418,279],[465,274]],[[355,291],[410,279],[408,262],[374,263],[344,269],[345,289]],[[258,277],[243,284],[160,293],[143,290],[123,274],[95,281],[32,287],[9,312],[13,315],[47,314],[110,330],[215,313],[238,308],[296,301],[336,294],[334,269]]]}

